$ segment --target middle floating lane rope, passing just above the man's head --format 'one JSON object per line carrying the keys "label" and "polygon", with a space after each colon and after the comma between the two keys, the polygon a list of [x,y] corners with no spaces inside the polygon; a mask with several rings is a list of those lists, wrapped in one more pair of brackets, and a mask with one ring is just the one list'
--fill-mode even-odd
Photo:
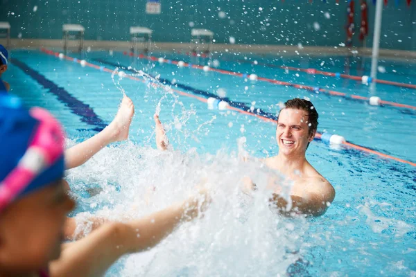
{"label": "middle floating lane rope, passing just above the man's head", "polygon": [[[132,53],[128,54],[127,52],[123,52],[124,55],[130,55],[130,56],[136,56],[142,59],[146,59],[146,60],[151,60],[153,62],[158,62],[159,58],[155,57],[155,56],[146,56],[143,54],[140,55],[133,55]],[[162,57],[164,60],[163,62],[166,64],[178,64],[178,61],[176,60],[168,60],[165,59],[164,57]],[[184,67],[188,67],[188,68],[192,68],[192,69],[199,69],[199,70],[203,70],[204,66],[200,66],[198,64],[190,64],[190,63],[186,63],[184,62]],[[243,73],[238,73],[238,72],[234,72],[234,71],[227,71],[224,69],[214,69],[214,68],[209,68],[209,71],[214,71],[217,73],[221,73],[221,74],[225,74],[225,75],[233,75],[233,76],[237,76],[237,77],[242,77],[242,78],[249,78],[249,74],[243,74]],[[345,99],[353,99],[353,100],[360,100],[363,102],[370,102],[370,98],[364,97],[364,96],[357,96],[354,94],[347,94],[347,93],[343,93],[340,91],[333,91],[330,89],[322,89],[321,87],[311,87],[305,84],[295,84],[295,83],[291,83],[291,82],[284,82],[284,81],[280,81],[280,80],[274,80],[274,79],[270,79],[270,78],[263,78],[263,77],[257,77],[257,80],[263,81],[263,82],[269,82],[271,84],[277,84],[277,85],[281,85],[281,86],[287,86],[287,87],[294,87],[296,89],[306,89],[308,91],[312,91],[313,93],[324,93],[327,94],[329,96],[337,96],[337,97],[342,97]],[[361,78],[360,78],[361,80]],[[391,107],[399,107],[399,108],[405,108],[405,109],[413,109],[416,110],[416,106],[411,106],[411,105],[406,105],[406,104],[401,104],[401,103],[397,103],[397,102],[391,102],[391,101],[385,101],[385,100],[380,100],[379,105],[384,105],[384,106],[391,106]]]}

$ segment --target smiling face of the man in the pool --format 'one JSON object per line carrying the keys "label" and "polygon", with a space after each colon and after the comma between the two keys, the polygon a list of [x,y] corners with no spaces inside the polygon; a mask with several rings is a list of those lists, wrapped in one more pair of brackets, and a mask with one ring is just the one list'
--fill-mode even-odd
{"label": "smiling face of the man in the pool", "polygon": [[302,109],[280,111],[276,128],[279,152],[286,156],[303,155],[315,134],[309,134],[308,114]]}

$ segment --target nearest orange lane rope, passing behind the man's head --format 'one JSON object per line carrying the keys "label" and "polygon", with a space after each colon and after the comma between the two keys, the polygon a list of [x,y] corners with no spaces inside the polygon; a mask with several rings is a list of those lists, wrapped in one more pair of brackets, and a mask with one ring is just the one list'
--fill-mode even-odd
{"label": "nearest orange lane rope, passing behind the man's head", "polygon": [[[58,55],[59,55],[59,53],[55,53],[55,52],[50,51],[50,50],[45,49],[45,48],[41,48],[41,51],[44,52],[44,53],[46,53],[46,54],[49,54],[49,55],[54,55],[55,57],[58,57]],[[70,60],[70,61],[77,62],[78,64],[80,64],[80,60],[78,60],[76,58],[67,57],[67,56],[63,56],[63,57],[64,57],[65,60]],[[105,71],[105,72],[109,72],[109,73],[113,73],[114,72],[114,71],[112,71],[110,69],[103,68],[103,66],[97,66],[96,64],[91,64],[89,62],[85,62],[85,66],[89,66],[89,67],[92,67],[94,69],[98,69],[98,70]],[[139,79],[139,78],[135,78],[135,77],[130,76],[130,75],[125,75],[125,78],[130,78],[132,80],[137,80],[139,82],[146,83],[146,80]],[[163,87],[161,84],[156,84],[156,83],[152,83],[152,86],[153,87]],[[198,97],[198,96],[193,96],[192,94],[185,93],[185,92],[179,91],[177,89],[172,89],[172,91],[175,91],[176,93],[178,93],[178,94],[180,94],[182,96],[196,98],[196,99],[200,100],[201,102],[205,102],[205,103],[207,102],[207,99],[206,98],[202,98],[202,97]],[[260,119],[262,119],[264,121],[268,121],[268,122],[277,124],[277,120],[275,120],[275,119],[266,118],[265,116],[260,116],[258,114],[253,114],[250,111],[244,111],[242,109],[237,109],[237,108],[231,107],[231,106],[227,107],[227,109],[231,109],[233,111],[237,111],[237,112],[239,112],[241,114],[246,114],[246,115],[249,115],[249,116],[255,116],[255,117],[260,118]],[[322,133],[316,132],[315,139],[319,139],[319,140],[322,141]],[[359,150],[359,151],[362,151],[362,152],[367,152],[367,153],[374,154],[376,156],[379,156],[379,157],[382,157],[382,158],[385,158],[385,159],[392,159],[393,161],[398,161],[400,163],[407,163],[410,166],[415,166],[416,167],[416,163],[413,163],[411,161],[406,161],[404,159],[400,159],[400,158],[397,158],[397,157],[393,157],[393,156],[388,155],[388,154],[383,154],[383,153],[378,152],[376,150],[372,150],[372,149],[369,149],[369,148],[365,148],[365,147],[363,147],[361,145],[356,145],[354,143],[349,143],[348,141],[344,141],[343,142],[343,145],[346,145],[348,148],[352,148],[354,150]]]}

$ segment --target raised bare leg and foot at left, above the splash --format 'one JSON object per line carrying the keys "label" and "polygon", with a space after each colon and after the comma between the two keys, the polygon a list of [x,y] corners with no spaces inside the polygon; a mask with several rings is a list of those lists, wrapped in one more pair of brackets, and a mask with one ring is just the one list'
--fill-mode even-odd
{"label": "raised bare leg and foot at left, above the splash", "polygon": [[67,169],[82,165],[110,143],[127,139],[134,113],[135,106],[132,100],[124,96],[119,111],[110,125],[92,138],[87,139],[87,141],[83,141],[65,151]]}

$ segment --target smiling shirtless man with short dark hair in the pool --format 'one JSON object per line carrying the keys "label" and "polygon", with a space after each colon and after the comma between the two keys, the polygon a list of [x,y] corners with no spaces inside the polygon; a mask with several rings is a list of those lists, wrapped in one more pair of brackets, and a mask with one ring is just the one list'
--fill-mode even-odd
{"label": "smiling shirtless man with short dark hair in the pool", "polygon": [[295,211],[304,215],[323,215],[335,197],[333,186],[305,157],[317,127],[318,111],[310,101],[295,98],[284,103],[277,118],[279,153],[264,160],[269,168],[278,170],[293,181],[290,192],[292,203],[289,205],[281,197],[281,186],[272,187],[272,201],[282,213]]}

